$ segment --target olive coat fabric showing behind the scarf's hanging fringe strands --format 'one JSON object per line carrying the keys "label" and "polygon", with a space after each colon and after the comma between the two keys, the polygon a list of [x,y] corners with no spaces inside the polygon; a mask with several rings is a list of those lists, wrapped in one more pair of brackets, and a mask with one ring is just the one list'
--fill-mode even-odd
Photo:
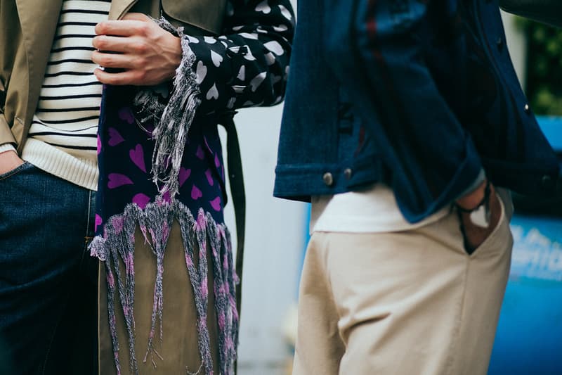
{"label": "olive coat fabric showing behind the scarf's hanging fringe strands", "polygon": [[[195,299],[193,289],[188,277],[185,265],[185,255],[181,232],[178,223],[174,223],[170,239],[166,246],[164,257],[164,343],[159,344],[159,326],[157,325],[155,335],[155,349],[164,360],[157,355],[153,358],[157,367],[154,367],[150,354],[145,363],[148,335],[150,333],[152,318],[152,303],[154,299],[154,284],[156,275],[156,258],[140,229],[135,234],[135,332],[136,332],[136,358],[139,373],[142,375],[152,374],[187,374],[197,373],[201,366],[201,357],[197,345],[197,312],[195,310]],[[207,252],[209,254],[210,251]],[[199,249],[195,249],[193,257],[196,267],[199,259]],[[212,265],[208,257],[209,266]],[[124,273],[124,265],[122,272]],[[211,339],[211,357],[213,359],[214,372],[218,369],[218,324],[214,309],[213,272],[209,269],[209,305],[207,309],[207,325]],[[105,284],[105,267],[100,263],[99,278],[99,374],[117,374],[113,360],[113,348],[107,317],[107,287]],[[117,335],[119,338],[119,362],[122,374],[129,372],[129,345],[127,344],[127,332],[124,321],[123,310],[119,300],[115,298],[115,315],[117,318]],[[200,374],[203,374],[201,371]]]}

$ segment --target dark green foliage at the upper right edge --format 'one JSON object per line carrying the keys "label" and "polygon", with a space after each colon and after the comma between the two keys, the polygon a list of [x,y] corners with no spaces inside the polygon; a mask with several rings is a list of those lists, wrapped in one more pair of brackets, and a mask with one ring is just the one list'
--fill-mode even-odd
{"label": "dark green foliage at the upper right edge", "polygon": [[562,29],[518,19],[528,37],[527,96],[538,115],[562,115]]}

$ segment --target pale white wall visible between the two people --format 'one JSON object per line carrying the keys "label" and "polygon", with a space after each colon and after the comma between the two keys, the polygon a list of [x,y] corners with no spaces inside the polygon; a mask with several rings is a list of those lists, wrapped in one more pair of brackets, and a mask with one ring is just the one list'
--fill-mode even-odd
{"label": "pale white wall visible between the two people", "polygon": [[[281,113],[282,106],[251,108],[235,117],[247,196],[240,375],[287,374],[292,355],[282,326],[296,301],[306,205],[272,195]],[[235,237],[231,204],[225,214]]]}

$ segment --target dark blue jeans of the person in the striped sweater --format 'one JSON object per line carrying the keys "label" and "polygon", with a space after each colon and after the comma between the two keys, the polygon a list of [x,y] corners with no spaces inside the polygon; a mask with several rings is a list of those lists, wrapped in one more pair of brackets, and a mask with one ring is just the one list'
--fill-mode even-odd
{"label": "dark blue jeans of the person in the striped sweater", "polygon": [[94,193],[25,163],[0,175],[0,374],[95,374]]}

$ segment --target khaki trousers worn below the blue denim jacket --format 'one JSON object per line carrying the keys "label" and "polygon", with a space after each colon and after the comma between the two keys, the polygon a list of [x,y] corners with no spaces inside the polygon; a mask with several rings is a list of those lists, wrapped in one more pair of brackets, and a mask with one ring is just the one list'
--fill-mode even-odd
{"label": "khaki trousers worn below the blue denim jacket", "polygon": [[455,212],[412,231],[315,232],[293,374],[486,374],[509,274],[510,217],[504,199],[499,224],[472,255]]}

